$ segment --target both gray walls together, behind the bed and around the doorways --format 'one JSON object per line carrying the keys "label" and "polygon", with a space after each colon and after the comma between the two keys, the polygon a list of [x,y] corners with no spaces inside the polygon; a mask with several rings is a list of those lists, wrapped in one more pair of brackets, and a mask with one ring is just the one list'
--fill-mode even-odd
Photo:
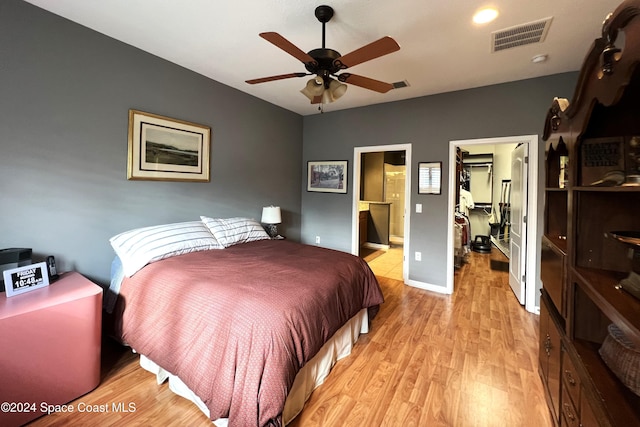
{"label": "both gray walls together, behind the bed and around the doorways", "polygon": [[[411,143],[414,178],[418,162],[439,160],[446,177],[450,140],[540,134],[552,98],[570,98],[576,79],[567,73],[302,118],[0,0],[0,247],[32,247],[105,282],[108,238],[118,232],[202,214],[259,217],[263,205],[277,204],[287,237],[313,244],[319,235],[322,246],[350,252],[354,147]],[[210,126],[211,182],[127,181],[130,108]],[[539,154],[542,170],[543,143]],[[344,159],[347,194],[306,192],[307,161]],[[409,279],[436,286],[446,279],[443,184],[439,196],[418,195],[416,179],[411,190],[423,213],[411,213],[409,249],[423,260],[410,261]]]}

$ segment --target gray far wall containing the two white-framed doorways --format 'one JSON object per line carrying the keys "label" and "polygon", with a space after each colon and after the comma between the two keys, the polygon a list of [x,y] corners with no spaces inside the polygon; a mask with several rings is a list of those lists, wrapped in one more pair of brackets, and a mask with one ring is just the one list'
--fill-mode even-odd
{"label": "gray far wall containing the two white-framed doorways", "polygon": [[[303,163],[309,160],[349,160],[352,177],[355,147],[412,144],[411,232],[409,279],[446,286],[449,141],[515,135],[540,135],[554,96],[571,98],[577,73],[451,92],[441,95],[325,112],[304,118]],[[544,170],[544,142],[540,142],[540,170]],[[419,195],[419,162],[443,162],[441,195]],[[542,174],[540,174],[542,176]],[[302,236],[313,244],[350,252],[353,180],[348,194],[302,193]],[[538,212],[542,232],[540,179]],[[357,189],[356,189],[357,191]],[[423,213],[415,213],[421,203]],[[407,249],[407,248],[405,248]],[[413,259],[422,252],[422,261]]]}

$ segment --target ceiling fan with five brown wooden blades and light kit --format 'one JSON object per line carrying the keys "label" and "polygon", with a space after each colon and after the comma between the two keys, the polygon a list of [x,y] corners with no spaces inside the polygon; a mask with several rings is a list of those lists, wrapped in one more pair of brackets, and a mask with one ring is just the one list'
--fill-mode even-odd
{"label": "ceiling fan with five brown wooden blades and light kit", "polygon": [[[340,55],[339,52],[325,47],[325,24],[333,17],[333,8],[331,8],[331,6],[318,6],[315,10],[315,15],[318,21],[322,23],[322,47],[313,49],[308,53],[303,52],[278,33],[267,32],[259,34],[263,39],[301,61],[307,69],[307,73],[280,74],[277,76],[247,80],[246,82],[249,84],[265,83],[315,74],[316,77],[309,80],[300,91],[309,98],[312,104],[328,104],[340,98],[347,91],[347,85],[344,83],[380,93],[386,93],[393,89],[391,83],[385,83],[380,80],[351,73],[337,73],[354,65],[400,50],[400,46],[394,39],[391,37],[383,37],[346,55]],[[332,76],[335,78],[332,78]]]}

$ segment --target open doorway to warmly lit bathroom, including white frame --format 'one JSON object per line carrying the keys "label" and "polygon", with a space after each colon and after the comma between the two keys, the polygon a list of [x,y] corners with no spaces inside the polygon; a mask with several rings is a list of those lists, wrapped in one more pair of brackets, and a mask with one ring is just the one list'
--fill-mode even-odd
{"label": "open doorway to warmly lit bathroom, including white frame", "polygon": [[354,149],[352,253],[374,273],[406,281],[411,145]]}

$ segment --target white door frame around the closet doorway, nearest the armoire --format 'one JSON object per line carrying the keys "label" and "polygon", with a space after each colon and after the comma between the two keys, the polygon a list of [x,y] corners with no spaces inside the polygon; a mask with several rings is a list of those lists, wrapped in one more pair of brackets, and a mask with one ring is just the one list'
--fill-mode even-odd
{"label": "white door frame around the closet doorway, nearest the armoire", "polygon": [[[448,203],[448,230],[447,235],[447,293],[454,291],[454,208],[456,195],[456,148],[464,145],[497,145],[523,142],[529,144],[529,171],[527,173],[527,255],[525,266],[525,304],[524,307],[531,313],[539,313],[536,306],[537,288],[537,256],[538,244],[538,135],[519,135],[498,138],[480,138],[449,141],[449,203]],[[515,296],[514,296],[515,297]]]}

